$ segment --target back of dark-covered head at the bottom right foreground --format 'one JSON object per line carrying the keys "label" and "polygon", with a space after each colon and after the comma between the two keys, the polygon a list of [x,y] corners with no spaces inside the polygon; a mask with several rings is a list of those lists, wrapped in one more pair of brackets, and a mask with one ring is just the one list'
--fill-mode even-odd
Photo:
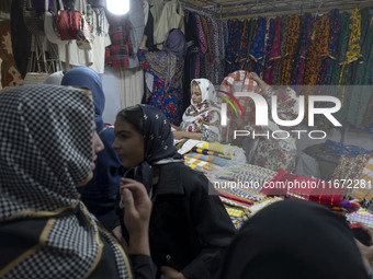
{"label": "back of dark-covered head at the bottom right foreground", "polygon": [[368,278],[341,217],[312,201],[285,200],[264,208],[226,249],[222,279]]}

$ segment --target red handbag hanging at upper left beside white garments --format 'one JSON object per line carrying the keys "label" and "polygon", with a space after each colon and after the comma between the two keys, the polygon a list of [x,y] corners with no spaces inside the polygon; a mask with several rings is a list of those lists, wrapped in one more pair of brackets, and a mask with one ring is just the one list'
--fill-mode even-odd
{"label": "red handbag hanging at upper left beside white garments", "polygon": [[80,26],[80,12],[65,10],[59,0],[60,10],[55,15],[57,31],[63,40],[76,39]]}

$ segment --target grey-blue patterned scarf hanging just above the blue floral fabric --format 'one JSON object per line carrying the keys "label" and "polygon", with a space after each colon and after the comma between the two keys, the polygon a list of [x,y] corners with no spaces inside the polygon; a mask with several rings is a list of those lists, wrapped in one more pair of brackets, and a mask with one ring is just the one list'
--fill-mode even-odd
{"label": "grey-blue patterned scarf hanging just above the blue floral fabric", "polygon": [[165,50],[146,53],[146,60],[156,75],[165,82],[165,89],[181,86],[185,53],[185,37],[181,30],[173,30],[169,34]]}

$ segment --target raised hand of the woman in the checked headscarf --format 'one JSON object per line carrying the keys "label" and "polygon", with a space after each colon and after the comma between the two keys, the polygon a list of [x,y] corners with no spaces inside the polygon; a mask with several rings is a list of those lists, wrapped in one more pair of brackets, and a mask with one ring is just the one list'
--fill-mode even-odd
{"label": "raised hand of the woman in the checked headscarf", "polygon": [[124,202],[124,223],[129,233],[129,254],[150,255],[149,220],[151,201],[139,182],[121,178],[120,193]]}

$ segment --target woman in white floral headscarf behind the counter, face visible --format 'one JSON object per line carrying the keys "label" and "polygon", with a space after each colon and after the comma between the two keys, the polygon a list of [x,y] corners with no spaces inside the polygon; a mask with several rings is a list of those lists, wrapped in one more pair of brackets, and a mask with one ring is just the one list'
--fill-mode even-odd
{"label": "woman in white floral headscarf behind the counter, face visible", "polygon": [[191,105],[184,112],[180,127],[172,126],[176,129],[173,138],[219,141],[221,109],[213,83],[207,79],[194,79],[191,89]]}

